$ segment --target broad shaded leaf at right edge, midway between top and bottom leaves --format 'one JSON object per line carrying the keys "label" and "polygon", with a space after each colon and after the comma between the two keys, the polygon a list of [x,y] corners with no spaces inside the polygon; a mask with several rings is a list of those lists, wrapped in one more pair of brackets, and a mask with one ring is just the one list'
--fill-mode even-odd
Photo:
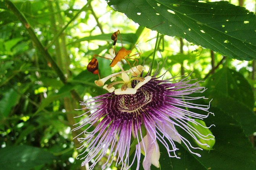
{"label": "broad shaded leaf at right edge, midway between top and bottom leaves", "polygon": [[253,91],[241,74],[223,68],[206,81],[206,87],[205,95],[213,99],[211,106],[222,109],[237,120],[246,135],[256,132]]}

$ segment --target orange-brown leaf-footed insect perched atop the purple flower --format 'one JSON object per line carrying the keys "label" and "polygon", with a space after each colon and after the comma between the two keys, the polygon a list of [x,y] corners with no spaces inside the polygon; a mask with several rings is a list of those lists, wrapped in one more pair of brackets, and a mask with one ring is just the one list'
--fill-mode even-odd
{"label": "orange-brown leaf-footed insect perched atop the purple flower", "polygon": [[[106,57],[103,57],[103,56],[99,56],[99,55],[93,55],[92,57],[92,60],[89,62],[89,64],[87,65],[87,70],[89,72],[92,72],[92,74],[98,74],[99,76],[99,65],[98,65],[98,61],[95,57],[101,57],[101,58],[105,58],[105,59],[110,59],[112,60],[112,62],[110,63],[110,67],[114,67],[119,61],[121,61],[122,59],[125,59],[125,61],[129,64],[129,66],[131,67],[131,64],[129,63],[129,61],[127,60],[127,58],[129,59],[134,59],[135,62],[133,63],[133,66],[134,64],[137,62],[138,64],[138,59],[136,58],[131,58],[132,56],[136,56],[138,55],[138,57],[140,56],[141,53],[136,53],[134,55],[131,55],[131,56],[128,56],[130,55],[131,51],[133,50],[133,48],[136,47],[136,45],[131,49],[131,50],[126,50],[124,47],[123,47],[123,43],[122,43],[122,38],[121,38],[121,34],[120,34],[120,31],[117,30],[116,32],[114,32],[112,35],[111,35],[111,39],[113,40],[113,45],[114,45],[114,51],[115,51],[115,45],[117,43],[117,37],[118,37],[118,34],[120,35],[120,41],[121,41],[121,44],[122,44],[122,48],[117,52],[117,54],[115,55],[115,57],[113,59],[111,58],[106,58]],[[100,79],[100,76],[99,76],[99,79]]]}

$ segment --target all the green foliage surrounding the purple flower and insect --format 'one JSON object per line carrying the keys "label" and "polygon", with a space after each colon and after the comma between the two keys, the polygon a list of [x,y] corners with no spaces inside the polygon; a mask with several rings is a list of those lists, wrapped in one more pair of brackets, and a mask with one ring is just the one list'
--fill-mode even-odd
{"label": "all the green foliage surrounding the purple flower and insect", "polygon": [[[215,124],[213,150],[196,157],[180,145],[181,159],[173,159],[160,146],[161,169],[256,167],[255,3],[1,0],[0,169],[85,169],[75,159],[79,143],[71,132],[78,121],[73,117],[83,112],[74,109],[79,101],[106,93],[86,66],[92,55],[112,47],[110,37],[118,29],[127,49],[138,42],[133,52],[142,52],[140,64],[148,69],[155,55],[155,63],[166,60],[164,69],[171,68],[166,77],[193,71],[191,78],[204,80],[204,96],[213,99],[215,116],[205,120]],[[101,77],[118,70],[98,60]]]}

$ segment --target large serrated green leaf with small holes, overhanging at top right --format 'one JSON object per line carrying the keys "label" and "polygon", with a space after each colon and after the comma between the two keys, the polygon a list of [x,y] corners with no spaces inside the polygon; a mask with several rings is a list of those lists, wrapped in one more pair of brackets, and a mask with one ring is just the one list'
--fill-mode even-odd
{"label": "large serrated green leaf with small holes, overhanging at top right", "polygon": [[109,0],[141,26],[240,59],[256,58],[256,17],[225,1]]}

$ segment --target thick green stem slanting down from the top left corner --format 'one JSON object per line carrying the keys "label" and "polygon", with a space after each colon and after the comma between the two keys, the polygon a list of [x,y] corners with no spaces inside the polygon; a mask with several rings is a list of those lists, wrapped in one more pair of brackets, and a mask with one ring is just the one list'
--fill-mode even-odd
{"label": "thick green stem slanting down from the top left corner", "polygon": [[57,64],[53,60],[52,56],[50,56],[49,52],[47,50],[45,50],[44,46],[37,38],[34,30],[32,29],[31,25],[29,24],[28,20],[23,15],[23,13],[21,13],[21,11],[19,11],[18,8],[10,0],[5,0],[4,2],[5,2],[5,5],[7,6],[7,8],[10,9],[15,14],[15,16],[19,19],[19,21],[21,21],[21,23],[26,27],[26,29],[28,30],[29,36],[31,37],[32,42],[35,43],[37,49],[42,53],[42,55],[45,57],[45,59],[50,62],[50,64],[52,65],[52,68],[60,77],[60,80],[63,83],[65,83],[66,78],[65,78],[63,72],[57,66]]}

